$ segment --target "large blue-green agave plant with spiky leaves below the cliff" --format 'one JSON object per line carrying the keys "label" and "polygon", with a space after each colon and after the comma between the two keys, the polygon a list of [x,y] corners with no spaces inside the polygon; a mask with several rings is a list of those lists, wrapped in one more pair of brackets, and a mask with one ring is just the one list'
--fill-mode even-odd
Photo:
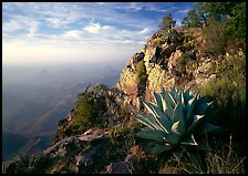
{"label": "large blue-green agave plant with spiky leaves below the cliff", "polygon": [[[143,102],[149,114],[140,114],[137,121],[146,127],[137,132],[137,137],[149,139],[152,152],[156,155],[173,151],[180,159],[183,145],[209,149],[207,142],[198,144],[195,138],[219,130],[207,122],[206,111],[210,106],[198,92],[189,89],[183,92],[175,86],[170,92],[163,89],[161,94],[153,93],[155,103]],[[179,149],[178,149],[179,148]]]}

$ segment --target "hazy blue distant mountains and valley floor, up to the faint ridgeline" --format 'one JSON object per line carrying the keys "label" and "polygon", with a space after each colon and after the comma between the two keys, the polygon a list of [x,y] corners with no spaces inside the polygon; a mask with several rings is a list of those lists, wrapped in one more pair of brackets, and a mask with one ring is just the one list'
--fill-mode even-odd
{"label": "hazy blue distant mountains and valley floor, up to the faint ridgeline", "polygon": [[113,87],[120,75],[118,71],[108,68],[102,74],[83,75],[87,79],[82,82],[79,79],[76,83],[69,73],[60,79],[50,69],[42,69],[31,83],[3,85],[3,161],[27,151],[44,149],[52,141],[56,123],[73,108],[78,93],[90,83],[91,87],[100,83]]}

